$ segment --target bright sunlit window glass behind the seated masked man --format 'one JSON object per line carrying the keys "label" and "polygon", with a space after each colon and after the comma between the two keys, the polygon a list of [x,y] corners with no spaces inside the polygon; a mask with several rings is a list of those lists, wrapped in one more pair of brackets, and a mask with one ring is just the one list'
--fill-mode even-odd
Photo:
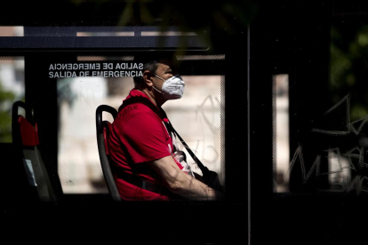
{"label": "bright sunlit window glass behind the seated masked man", "polygon": [[[132,60],[132,56],[119,59]],[[224,59],[224,56],[180,56],[181,60]],[[96,63],[104,57],[78,57]],[[185,92],[181,99],[167,101],[164,111],[175,130],[198,159],[219,174],[224,184],[224,75],[181,75]],[[132,76],[76,76],[57,79],[59,111],[58,172],[65,194],[108,193],[100,166],[96,141],[95,111],[100,105],[116,110],[134,86]],[[104,120],[112,122],[111,115]],[[110,117],[108,117],[110,116]],[[192,170],[201,170],[187,154]]]}

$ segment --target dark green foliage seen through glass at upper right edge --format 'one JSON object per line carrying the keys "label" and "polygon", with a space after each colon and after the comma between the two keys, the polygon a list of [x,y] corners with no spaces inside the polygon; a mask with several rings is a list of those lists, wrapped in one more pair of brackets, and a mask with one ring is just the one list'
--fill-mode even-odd
{"label": "dark green foliage seen through glass at upper right edge", "polygon": [[350,94],[351,120],[368,115],[368,26],[335,25],[331,31],[332,102]]}

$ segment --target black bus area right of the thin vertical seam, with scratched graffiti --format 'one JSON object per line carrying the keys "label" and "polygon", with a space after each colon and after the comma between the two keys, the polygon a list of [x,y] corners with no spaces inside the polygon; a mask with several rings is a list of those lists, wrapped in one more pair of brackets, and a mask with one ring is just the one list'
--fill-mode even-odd
{"label": "black bus area right of the thin vertical seam, with scratched graffiti", "polygon": [[[363,101],[366,107],[364,54],[357,62],[351,59],[352,69],[357,68],[353,72],[356,75],[354,86],[346,84],[346,76],[339,77],[341,81],[337,85],[331,83],[331,64],[336,59],[331,53],[331,43],[349,53],[347,40],[355,39],[356,30],[366,25],[366,14],[367,5],[362,1],[322,1],[317,4],[277,1],[263,4],[260,15],[252,21],[251,244],[366,244],[368,241],[364,232],[364,210],[367,208],[364,193],[358,195],[355,190],[349,193],[322,192],[321,189],[328,188],[327,176],[317,182],[313,179],[315,172],[308,184],[303,185],[297,162],[291,173],[292,193],[274,194],[271,181],[274,172],[269,164],[274,161],[272,75],[289,75],[290,159],[301,144],[307,173],[321,149],[343,146],[341,152],[344,152],[349,146],[358,145],[357,137],[328,137],[311,130],[326,126],[324,112],[348,93],[357,100],[356,103]],[[340,39],[332,36],[332,27],[340,30]],[[335,119],[341,121],[343,116],[342,113]],[[326,161],[325,156],[322,156],[323,161]],[[321,172],[324,172],[322,164]]]}

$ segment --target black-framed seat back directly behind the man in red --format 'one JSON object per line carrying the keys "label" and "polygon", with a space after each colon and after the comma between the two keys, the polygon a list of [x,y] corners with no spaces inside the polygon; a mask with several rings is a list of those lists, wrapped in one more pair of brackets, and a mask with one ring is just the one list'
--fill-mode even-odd
{"label": "black-framed seat back directly behind the man in red", "polygon": [[122,201],[119,192],[117,191],[114,176],[111,171],[111,163],[108,156],[108,137],[111,129],[111,123],[102,119],[102,113],[108,112],[115,119],[117,111],[114,107],[100,105],[96,109],[96,131],[97,131],[97,146],[99,148],[100,163],[108,186],[108,193],[114,201]]}

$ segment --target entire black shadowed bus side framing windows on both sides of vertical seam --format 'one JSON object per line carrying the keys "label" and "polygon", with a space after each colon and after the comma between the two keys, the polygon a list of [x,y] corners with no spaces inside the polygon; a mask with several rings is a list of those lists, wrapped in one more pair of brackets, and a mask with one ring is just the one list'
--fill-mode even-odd
{"label": "entire black shadowed bus side framing windows on both sides of vertical seam", "polygon": [[[364,194],[317,192],[316,182],[307,186],[300,184],[297,168],[292,173],[295,179],[292,193],[274,193],[272,138],[272,75],[288,74],[291,154],[302,142],[306,146],[309,170],[316,156],[312,147],[315,142],[321,147],[331,146],[331,138],[310,134],[310,130],[319,125],[316,123],[324,111],[347,89],[343,84],[332,88],[330,83],[330,45],[334,40],[331,28],[340,27],[345,21],[348,24],[342,26],[345,30],[341,33],[353,36],[353,28],[349,27],[359,27],[366,22],[368,6],[363,1],[354,4],[221,1],[204,5],[196,1],[176,4],[167,1],[41,1],[20,5],[15,1],[3,6],[0,16],[3,25],[155,23],[179,25],[183,30],[210,27],[210,50],[188,53],[226,55],[227,198],[224,202],[114,203],[108,196],[100,195],[70,195],[56,203],[24,201],[20,181],[14,181],[20,178],[19,174],[4,171],[5,233],[35,235],[39,240],[44,240],[47,233],[52,235],[51,241],[67,238],[69,242],[75,241],[72,235],[86,240],[100,236],[119,242],[132,239],[132,244],[151,241],[252,245],[367,243]],[[149,10],[151,17],[143,15],[142,9]],[[127,51],[104,49],[1,50],[1,55],[25,56],[26,101],[36,103],[41,112],[57,107],[56,83],[48,83],[50,80],[41,76],[46,74],[39,72],[42,64],[70,60],[76,54],[118,56],[125,53]],[[364,64],[364,58],[359,62]],[[359,81],[364,81],[364,75]],[[349,89],[356,91],[356,97],[362,96],[363,103],[367,102],[367,85],[362,82],[359,88]],[[56,112],[40,115],[44,115],[40,118],[44,129],[54,130]],[[44,145],[43,150],[52,162],[56,158],[53,146],[57,139],[45,134],[40,137],[51,143]],[[0,151],[6,162],[16,162],[11,145],[1,145]],[[4,170],[15,169],[4,167]],[[56,169],[53,166],[53,170]],[[324,180],[319,183],[324,185]]]}

